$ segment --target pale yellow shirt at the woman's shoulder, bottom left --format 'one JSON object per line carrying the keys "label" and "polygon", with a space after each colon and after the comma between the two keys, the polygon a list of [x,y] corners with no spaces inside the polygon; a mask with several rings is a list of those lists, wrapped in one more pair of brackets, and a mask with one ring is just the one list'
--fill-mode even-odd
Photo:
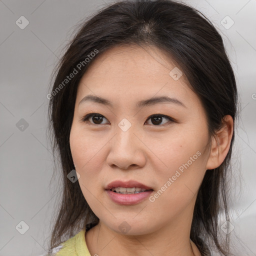
{"label": "pale yellow shirt at the woman's shoulder, bottom left", "polygon": [[85,229],[52,249],[52,256],[91,256],[86,242]]}

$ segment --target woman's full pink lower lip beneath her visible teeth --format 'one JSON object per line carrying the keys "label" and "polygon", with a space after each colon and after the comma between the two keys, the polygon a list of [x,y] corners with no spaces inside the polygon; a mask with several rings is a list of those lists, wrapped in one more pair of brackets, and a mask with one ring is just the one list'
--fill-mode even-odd
{"label": "woman's full pink lower lip beneath her visible teeth", "polygon": [[113,192],[111,190],[106,190],[109,197],[112,199],[112,201],[119,203],[119,204],[136,204],[141,201],[143,201],[145,198],[147,198],[153,190],[148,190],[140,193],[135,194],[120,194]]}

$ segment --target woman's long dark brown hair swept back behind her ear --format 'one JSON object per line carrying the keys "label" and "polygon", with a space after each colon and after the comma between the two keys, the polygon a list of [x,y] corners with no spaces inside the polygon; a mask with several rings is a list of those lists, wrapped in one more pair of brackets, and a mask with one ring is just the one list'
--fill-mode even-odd
{"label": "woman's long dark brown hair swept back behind her ear", "polygon": [[[67,174],[74,168],[69,134],[77,86],[87,67],[100,53],[117,45],[156,46],[178,63],[189,86],[201,100],[210,135],[221,127],[224,115],[231,115],[233,120],[236,117],[236,83],[222,38],[198,10],[171,0],[124,0],[105,6],[78,28],[53,73],[48,108],[52,148],[61,160],[63,185],[50,248],[89,223],[98,223],[79,183],[70,182]],[[90,57],[88,62],[84,61],[95,49],[98,54]],[[83,65],[80,64],[77,74],[63,85],[66,75],[77,69],[79,63]],[[206,170],[197,194],[190,238],[202,255],[210,254],[212,244],[221,255],[229,255],[228,235],[222,241],[219,238],[218,217],[223,210],[225,219],[229,220],[226,176],[233,139],[234,133],[224,161],[219,167]]]}

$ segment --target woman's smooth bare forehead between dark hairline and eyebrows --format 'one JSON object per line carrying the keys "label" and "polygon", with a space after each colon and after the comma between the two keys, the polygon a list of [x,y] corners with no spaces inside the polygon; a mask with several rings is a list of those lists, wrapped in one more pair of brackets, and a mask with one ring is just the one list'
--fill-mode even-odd
{"label": "woman's smooth bare forehead between dark hairline and eyebrows", "polygon": [[173,68],[177,68],[175,62],[156,47],[113,47],[88,66],[78,85],[77,101],[88,94],[116,104],[167,95],[198,103],[186,77],[182,74],[175,80],[169,74]]}

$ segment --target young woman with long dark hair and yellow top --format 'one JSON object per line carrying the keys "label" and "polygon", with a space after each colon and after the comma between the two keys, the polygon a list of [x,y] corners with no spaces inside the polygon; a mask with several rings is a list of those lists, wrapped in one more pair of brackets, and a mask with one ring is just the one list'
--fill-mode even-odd
{"label": "young woman with long dark hair and yellow top", "polygon": [[55,74],[64,189],[49,254],[229,255],[218,216],[228,224],[237,92],[210,21],[171,0],[116,2],[81,25]]}

